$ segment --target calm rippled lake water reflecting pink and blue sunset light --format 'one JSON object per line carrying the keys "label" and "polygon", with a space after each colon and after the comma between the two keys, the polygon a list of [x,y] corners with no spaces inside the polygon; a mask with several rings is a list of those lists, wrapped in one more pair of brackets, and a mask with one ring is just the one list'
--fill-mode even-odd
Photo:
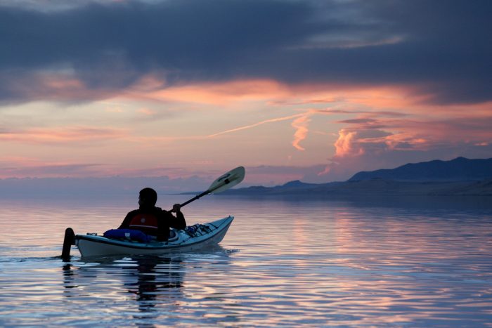
{"label": "calm rippled lake water reflecting pink and blue sunset light", "polygon": [[0,326],[491,327],[490,200],[204,197],[188,224],[235,216],[216,249],[67,263],[65,228],[102,233],[136,201],[3,200]]}

